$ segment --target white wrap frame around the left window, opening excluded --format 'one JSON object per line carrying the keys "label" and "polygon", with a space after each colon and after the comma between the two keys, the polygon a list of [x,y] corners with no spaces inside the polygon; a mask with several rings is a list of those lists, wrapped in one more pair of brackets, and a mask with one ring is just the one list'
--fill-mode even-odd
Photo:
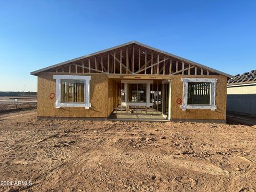
{"label": "white wrap frame around the left window, opening excluded", "polygon": [[[91,107],[90,103],[90,80],[91,76],[82,75],[53,75],[53,79],[56,79],[56,92],[55,92],[55,108],[60,107],[85,107],[89,109]],[[71,79],[71,80],[84,80],[84,102],[83,103],[67,103],[61,102],[61,80]]]}

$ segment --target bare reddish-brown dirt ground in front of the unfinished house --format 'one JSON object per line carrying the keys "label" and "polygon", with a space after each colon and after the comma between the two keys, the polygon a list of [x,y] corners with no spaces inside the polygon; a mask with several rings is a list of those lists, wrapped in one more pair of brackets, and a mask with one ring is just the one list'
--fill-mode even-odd
{"label": "bare reddish-brown dirt ground in front of the unfinished house", "polygon": [[[0,116],[1,191],[255,191],[256,129]],[[6,184],[6,183],[5,183]]]}

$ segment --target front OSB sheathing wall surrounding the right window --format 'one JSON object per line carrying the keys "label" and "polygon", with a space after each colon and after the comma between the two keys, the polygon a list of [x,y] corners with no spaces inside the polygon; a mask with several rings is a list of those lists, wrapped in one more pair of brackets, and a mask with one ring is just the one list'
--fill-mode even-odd
{"label": "front OSB sheathing wall surrounding the right window", "polygon": [[[183,76],[185,78],[195,76]],[[196,76],[196,78],[205,78],[205,76]],[[226,98],[227,98],[227,77],[224,76],[207,76],[207,78],[218,78],[216,83],[215,105],[217,109],[187,109],[183,111],[181,104],[177,99],[182,99],[183,82],[182,76],[171,77],[171,118],[172,119],[220,119],[226,120]]]}

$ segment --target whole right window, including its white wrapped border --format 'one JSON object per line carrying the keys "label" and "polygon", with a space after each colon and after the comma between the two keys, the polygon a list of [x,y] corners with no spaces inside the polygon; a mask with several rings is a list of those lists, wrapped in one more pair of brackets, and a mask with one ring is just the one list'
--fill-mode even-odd
{"label": "whole right window, including its white wrapped border", "polygon": [[182,78],[183,100],[180,106],[186,109],[215,110],[215,78]]}

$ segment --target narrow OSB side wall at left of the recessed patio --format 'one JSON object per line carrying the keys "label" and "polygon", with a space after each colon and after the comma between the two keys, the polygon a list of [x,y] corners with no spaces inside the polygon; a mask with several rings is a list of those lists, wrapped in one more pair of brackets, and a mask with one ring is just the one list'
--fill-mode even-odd
{"label": "narrow OSB side wall at left of the recessed patio", "polygon": [[117,86],[116,82],[113,79],[108,80],[108,115],[112,113],[112,111],[118,105],[118,94],[117,94]]}

